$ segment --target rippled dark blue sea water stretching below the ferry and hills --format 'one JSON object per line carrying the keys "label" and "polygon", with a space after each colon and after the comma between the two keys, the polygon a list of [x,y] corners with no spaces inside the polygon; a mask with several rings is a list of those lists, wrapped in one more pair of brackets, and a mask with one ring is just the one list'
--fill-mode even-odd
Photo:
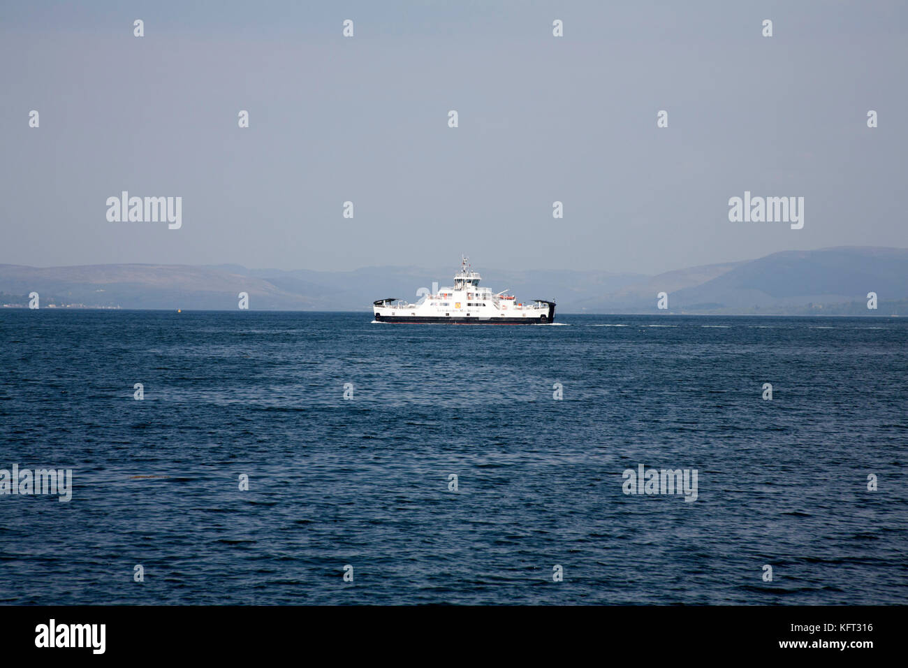
{"label": "rippled dark blue sea water stretching below the ferry and hills", "polygon": [[908,322],[370,320],[0,312],[0,603],[908,603]]}

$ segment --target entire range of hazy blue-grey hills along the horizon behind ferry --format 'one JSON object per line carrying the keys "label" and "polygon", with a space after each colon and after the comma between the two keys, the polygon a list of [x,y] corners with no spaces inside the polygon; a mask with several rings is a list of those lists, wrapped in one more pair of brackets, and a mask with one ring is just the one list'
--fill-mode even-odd
{"label": "entire range of hazy blue-grey hills along the horizon behind ferry", "polygon": [[[735,263],[647,276],[612,272],[477,267],[483,284],[521,299],[551,299],[564,313],[908,315],[908,249],[840,247],[787,251]],[[0,264],[0,303],[94,307],[226,309],[250,295],[262,310],[368,311],[380,297],[415,299],[420,287],[450,284],[455,267],[365,267],[349,272],[247,269],[235,264],[99,264],[30,267]],[[878,295],[868,312],[866,294]]]}

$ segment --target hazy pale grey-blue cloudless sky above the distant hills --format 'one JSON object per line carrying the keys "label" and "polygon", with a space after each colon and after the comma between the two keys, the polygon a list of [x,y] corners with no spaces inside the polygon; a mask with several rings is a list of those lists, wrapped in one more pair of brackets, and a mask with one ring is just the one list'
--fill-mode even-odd
{"label": "hazy pale grey-blue cloudless sky above the distant hills", "polygon": [[[908,245],[904,2],[82,5],[0,6],[0,263],[657,273]],[[108,222],[123,190],[182,196],[182,228]],[[804,228],[729,222],[745,190],[803,196]]]}

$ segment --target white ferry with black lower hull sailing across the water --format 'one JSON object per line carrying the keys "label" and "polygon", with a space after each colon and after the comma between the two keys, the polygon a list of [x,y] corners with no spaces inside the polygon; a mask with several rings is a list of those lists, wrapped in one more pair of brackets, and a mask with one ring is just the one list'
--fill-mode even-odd
{"label": "white ferry with black lower hull sailing across the water", "polygon": [[[548,324],[555,321],[555,302],[534,299],[532,303],[518,302],[502,290],[492,294],[479,287],[480,276],[464,257],[460,271],[454,274],[454,285],[433,289],[436,294],[424,294],[416,304],[396,297],[372,302],[375,321],[379,323],[453,323],[453,324]],[[427,289],[427,293],[430,291]],[[419,294],[419,293],[417,293]]]}

